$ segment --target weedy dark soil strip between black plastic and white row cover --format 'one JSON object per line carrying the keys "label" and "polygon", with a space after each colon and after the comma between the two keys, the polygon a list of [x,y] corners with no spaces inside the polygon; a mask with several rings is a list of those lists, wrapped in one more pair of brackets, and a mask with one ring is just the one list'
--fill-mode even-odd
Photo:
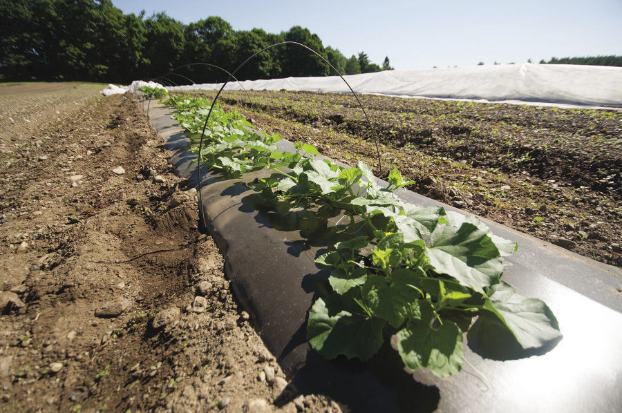
{"label": "weedy dark soil strip between black plastic and white row cover", "polygon": [[620,111],[359,98],[370,124],[352,95],[226,91],[220,101],[260,129],[379,175],[397,167],[416,182],[408,189],[622,267]]}

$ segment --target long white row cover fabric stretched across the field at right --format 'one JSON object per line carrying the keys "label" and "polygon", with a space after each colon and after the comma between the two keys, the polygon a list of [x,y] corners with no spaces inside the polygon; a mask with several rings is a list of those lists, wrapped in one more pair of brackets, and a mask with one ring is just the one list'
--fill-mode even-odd
{"label": "long white row cover fabric stretched across the field at right", "polygon": [[[569,64],[506,64],[417,70],[386,70],[344,76],[356,93],[543,102],[622,107],[622,68]],[[167,90],[215,90],[218,84],[169,87]],[[227,90],[305,90],[350,93],[339,76],[230,81]]]}

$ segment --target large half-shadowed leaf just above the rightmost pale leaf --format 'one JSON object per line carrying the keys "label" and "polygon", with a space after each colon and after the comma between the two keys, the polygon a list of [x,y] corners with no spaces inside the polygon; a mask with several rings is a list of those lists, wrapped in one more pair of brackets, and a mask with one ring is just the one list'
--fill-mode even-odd
{"label": "large half-shadowed leaf just above the rightmost pale leaf", "polygon": [[499,250],[475,225],[464,222],[459,229],[453,225],[438,225],[431,240],[431,247],[424,253],[435,271],[482,293],[484,287],[498,282],[503,270]]}

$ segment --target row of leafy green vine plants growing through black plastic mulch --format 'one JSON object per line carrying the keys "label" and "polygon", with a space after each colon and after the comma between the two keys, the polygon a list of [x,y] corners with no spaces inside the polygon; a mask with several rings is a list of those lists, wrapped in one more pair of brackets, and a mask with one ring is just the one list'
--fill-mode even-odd
{"label": "row of leafy green vine plants growing through black plastic mulch", "polygon": [[445,377],[462,368],[465,333],[482,348],[504,346],[500,336],[525,351],[560,340],[549,307],[501,280],[503,257],[517,245],[474,216],[403,202],[395,191],[411,181],[397,169],[383,187],[364,162],[340,166],[300,142],[281,151],[278,134],[256,131],[218,104],[206,122],[206,99],[171,95],[163,103],[211,171],[224,179],[270,171],[247,183],[257,208],[295,211],[301,236],[324,247],[316,262],[331,272],[317,283],[307,338],[325,358],[366,361],[391,340],[406,367]]}

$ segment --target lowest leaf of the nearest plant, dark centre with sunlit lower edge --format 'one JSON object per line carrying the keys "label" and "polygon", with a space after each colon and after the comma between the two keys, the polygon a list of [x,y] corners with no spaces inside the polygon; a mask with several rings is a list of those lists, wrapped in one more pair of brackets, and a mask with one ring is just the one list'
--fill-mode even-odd
{"label": "lowest leaf of the nearest plant, dark centre with sunlit lower edge", "polygon": [[451,376],[462,369],[462,332],[449,321],[434,329],[411,320],[397,332],[397,352],[409,369],[426,367],[439,377]]}

